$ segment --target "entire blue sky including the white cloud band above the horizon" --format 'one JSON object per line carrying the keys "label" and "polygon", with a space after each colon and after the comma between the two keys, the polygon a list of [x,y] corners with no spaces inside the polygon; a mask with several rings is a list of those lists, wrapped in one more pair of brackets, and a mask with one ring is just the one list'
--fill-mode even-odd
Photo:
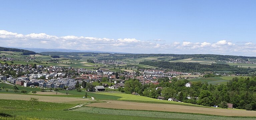
{"label": "entire blue sky including the white cloud band above the horizon", "polygon": [[0,46],[256,56],[255,0],[1,0]]}

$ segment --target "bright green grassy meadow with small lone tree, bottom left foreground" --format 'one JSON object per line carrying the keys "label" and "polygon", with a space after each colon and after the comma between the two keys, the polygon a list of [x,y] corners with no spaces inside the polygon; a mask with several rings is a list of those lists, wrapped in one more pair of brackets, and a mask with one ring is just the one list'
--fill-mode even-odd
{"label": "bright green grassy meadow with small lone tree, bottom left foreground", "polygon": [[[34,106],[34,109],[31,109],[29,101],[0,99],[0,120],[103,120],[113,118],[115,120],[123,120],[123,118],[125,118],[125,120],[188,120],[131,115],[109,115],[100,114],[100,112],[86,113],[67,110],[74,106],[74,104],[39,102],[38,105]],[[2,117],[1,115],[10,115],[12,117]]]}

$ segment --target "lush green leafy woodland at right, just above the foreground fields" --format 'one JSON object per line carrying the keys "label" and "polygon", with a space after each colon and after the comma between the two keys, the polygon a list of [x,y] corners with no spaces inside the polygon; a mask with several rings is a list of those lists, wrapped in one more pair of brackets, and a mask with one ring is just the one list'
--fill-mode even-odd
{"label": "lush green leafy woodland at right, just above the foreground fields", "polygon": [[[137,92],[140,95],[157,98],[163,96],[176,99],[192,104],[214,106],[227,108],[227,103],[232,103],[234,108],[256,110],[256,77],[238,78],[234,77],[227,84],[214,86],[208,85],[207,82],[195,82],[191,87],[186,87],[187,79],[178,80],[173,78],[169,82],[169,78],[159,79],[160,84],[142,85],[137,79],[129,79],[125,81],[125,87],[119,91],[131,94]],[[163,89],[156,90],[156,87]]]}

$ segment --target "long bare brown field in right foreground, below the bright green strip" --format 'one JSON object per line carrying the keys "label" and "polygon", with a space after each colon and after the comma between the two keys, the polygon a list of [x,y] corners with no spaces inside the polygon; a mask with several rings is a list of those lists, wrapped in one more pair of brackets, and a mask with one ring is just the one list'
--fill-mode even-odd
{"label": "long bare brown field in right foreground, below the bright green strip", "polygon": [[238,110],[238,109],[204,108],[204,107],[172,105],[172,104],[140,103],[140,102],[127,102],[127,101],[114,101],[114,100],[106,100],[106,102],[91,103],[86,106],[114,108],[114,109],[201,113],[201,114],[212,114],[212,115],[223,115],[223,116],[256,116],[256,111],[246,111],[246,110]]}

